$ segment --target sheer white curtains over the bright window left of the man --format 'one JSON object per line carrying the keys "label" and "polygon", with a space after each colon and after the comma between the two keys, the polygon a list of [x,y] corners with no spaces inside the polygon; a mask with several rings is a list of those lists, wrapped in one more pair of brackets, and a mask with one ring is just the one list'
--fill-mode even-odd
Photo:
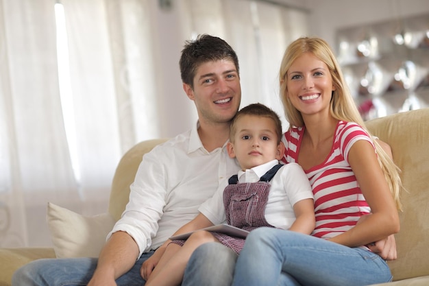
{"label": "sheer white curtains over the bright window left of the man", "polygon": [[48,201],[106,211],[121,155],[160,136],[151,2],[0,1],[0,246],[49,245]]}

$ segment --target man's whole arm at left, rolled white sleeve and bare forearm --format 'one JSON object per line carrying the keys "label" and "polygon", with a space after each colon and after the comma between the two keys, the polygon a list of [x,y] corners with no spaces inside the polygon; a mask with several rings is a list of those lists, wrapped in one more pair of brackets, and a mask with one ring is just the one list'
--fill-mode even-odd
{"label": "man's whole arm at left, rolled white sleeve and bare forearm", "polygon": [[[127,273],[141,252],[151,245],[151,239],[158,230],[167,190],[164,180],[158,179],[164,178],[164,169],[157,149],[145,154],[138,166],[130,186],[130,201],[99,254],[89,286],[116,286],[115,280]],[[151,207],[147,208],[148,205]],[[133,233],[134,238],[127,231]]]}

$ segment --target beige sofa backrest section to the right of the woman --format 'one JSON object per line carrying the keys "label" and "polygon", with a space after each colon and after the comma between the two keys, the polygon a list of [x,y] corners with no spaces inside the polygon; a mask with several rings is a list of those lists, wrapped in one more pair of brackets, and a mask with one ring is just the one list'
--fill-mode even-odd
{"label": "beige sofa backrest section to the right of the woman", "polygon": [[429,108],[400,112],[366,123],[387,142],[402,170],[401,230],[395,235],[397,259],[389,261],[393,279],[429,275]]}

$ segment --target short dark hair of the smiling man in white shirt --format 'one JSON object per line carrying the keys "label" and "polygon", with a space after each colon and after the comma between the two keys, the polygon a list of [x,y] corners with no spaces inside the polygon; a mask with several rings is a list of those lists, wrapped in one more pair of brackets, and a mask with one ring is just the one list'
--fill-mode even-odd
{"label": "short dark hair of the smiling man in white shirt", "polygon": [[195,40],[186,40],[179,62],[182,82],[194,88],[195,73],[201,64],[225,59],[234,62],[239,75],[238,57],[225,40],[208,34],[201,34]]}

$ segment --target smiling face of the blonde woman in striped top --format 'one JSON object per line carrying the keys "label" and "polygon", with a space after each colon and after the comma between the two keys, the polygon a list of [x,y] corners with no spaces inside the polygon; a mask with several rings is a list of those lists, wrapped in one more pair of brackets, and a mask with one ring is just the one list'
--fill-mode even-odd
{"label": "smiling face of the blonde woman in striped top", "polygon": [[287,97],[299,112],[312,115],[329,112],[332,75],[325,62],[312,53],[303,53],[286,73]]}

